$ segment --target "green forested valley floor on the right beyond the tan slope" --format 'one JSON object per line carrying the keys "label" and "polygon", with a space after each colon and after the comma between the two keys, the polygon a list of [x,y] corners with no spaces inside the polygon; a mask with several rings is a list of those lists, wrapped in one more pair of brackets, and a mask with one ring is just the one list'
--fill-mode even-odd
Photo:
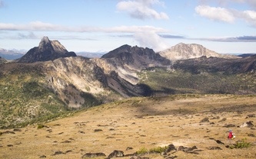
{"label": "green forested valley floor on the right beyond the tan slope", "polygon": [[194,70],[168,70],[154,67],[138,73],[139,83],[151,92],[165,94],[252,94],[256,93],[256,74],[194,73]]}

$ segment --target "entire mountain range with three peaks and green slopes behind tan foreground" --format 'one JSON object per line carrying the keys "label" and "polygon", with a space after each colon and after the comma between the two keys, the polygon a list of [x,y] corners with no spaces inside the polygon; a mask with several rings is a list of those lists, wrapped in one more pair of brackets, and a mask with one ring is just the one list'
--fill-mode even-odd
{"label": "entire mountain range with three peaks and green slopes behind tan foreground", "polygon": [[90,59],[43,37],[23,57],[0,58],[0,63],[2,126],[48,120],[132,96],[256,93],[255,56],[221,55],[198,44],[178,44],[159,53],[126,44]]}

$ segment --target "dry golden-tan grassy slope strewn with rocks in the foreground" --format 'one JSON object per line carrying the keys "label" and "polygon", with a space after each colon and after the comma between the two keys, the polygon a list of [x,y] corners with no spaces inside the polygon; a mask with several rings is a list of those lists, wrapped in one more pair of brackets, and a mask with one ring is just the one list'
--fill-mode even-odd
{"label": "dry golden-tan grassy slope strewn with rocks in the foreground", "polygon": [[[141,148],[169,144],[197,149],[143,157],[256,158],[256,127],[240,127],[247,121],[255,125],[255,114],[256,96],[136,97],[48,122],[40,129],[31,125],[0,130],[11,131],[0,136],[0,158],[81,158],[86,153],[104,153],[108,157],[114,150],[133,154]],[[236,136],[233,144],[247,138],[251,148],[225,148],[229,130]],[[222,150],[209,150],[213,147]]]}

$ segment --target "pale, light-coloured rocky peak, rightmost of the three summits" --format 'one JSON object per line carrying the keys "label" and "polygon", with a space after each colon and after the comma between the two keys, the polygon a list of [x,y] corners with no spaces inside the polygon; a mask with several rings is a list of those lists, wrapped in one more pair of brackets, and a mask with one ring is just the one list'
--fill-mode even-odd
{"label": "pale, light-coloured rocky peak, rightmost of the three summits", "polygon": [[229,55],[229,54],[218,54],[213,50],[208,50],[207,48],[199,44],[183,44],[183,43],[177,44],[174,47],[171,47],[167,50],[160,51],[159,54],[162,57],[165,57],[171,61],[186,60],[186,59],[198,58],[202,56],[219,57],[219,58],[226,58],[226,59],[240,58],[240,57]]}

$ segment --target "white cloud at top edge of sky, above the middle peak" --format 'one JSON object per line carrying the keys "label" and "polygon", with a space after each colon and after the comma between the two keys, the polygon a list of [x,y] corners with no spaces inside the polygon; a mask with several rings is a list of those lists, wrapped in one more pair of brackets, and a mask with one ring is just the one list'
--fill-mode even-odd
{"label": "white cloud at top edge of sky, above the middle peak", "polygon": [[164,2],[159,0],[135,0],[135,1],[122,1],[118,2],[116,7],[119,11],[128,11],[131,18],[144,19],[168,19],[168,15],[164,12],[158,13],[152,9],[153,5],[161,5],[165,7]]}

